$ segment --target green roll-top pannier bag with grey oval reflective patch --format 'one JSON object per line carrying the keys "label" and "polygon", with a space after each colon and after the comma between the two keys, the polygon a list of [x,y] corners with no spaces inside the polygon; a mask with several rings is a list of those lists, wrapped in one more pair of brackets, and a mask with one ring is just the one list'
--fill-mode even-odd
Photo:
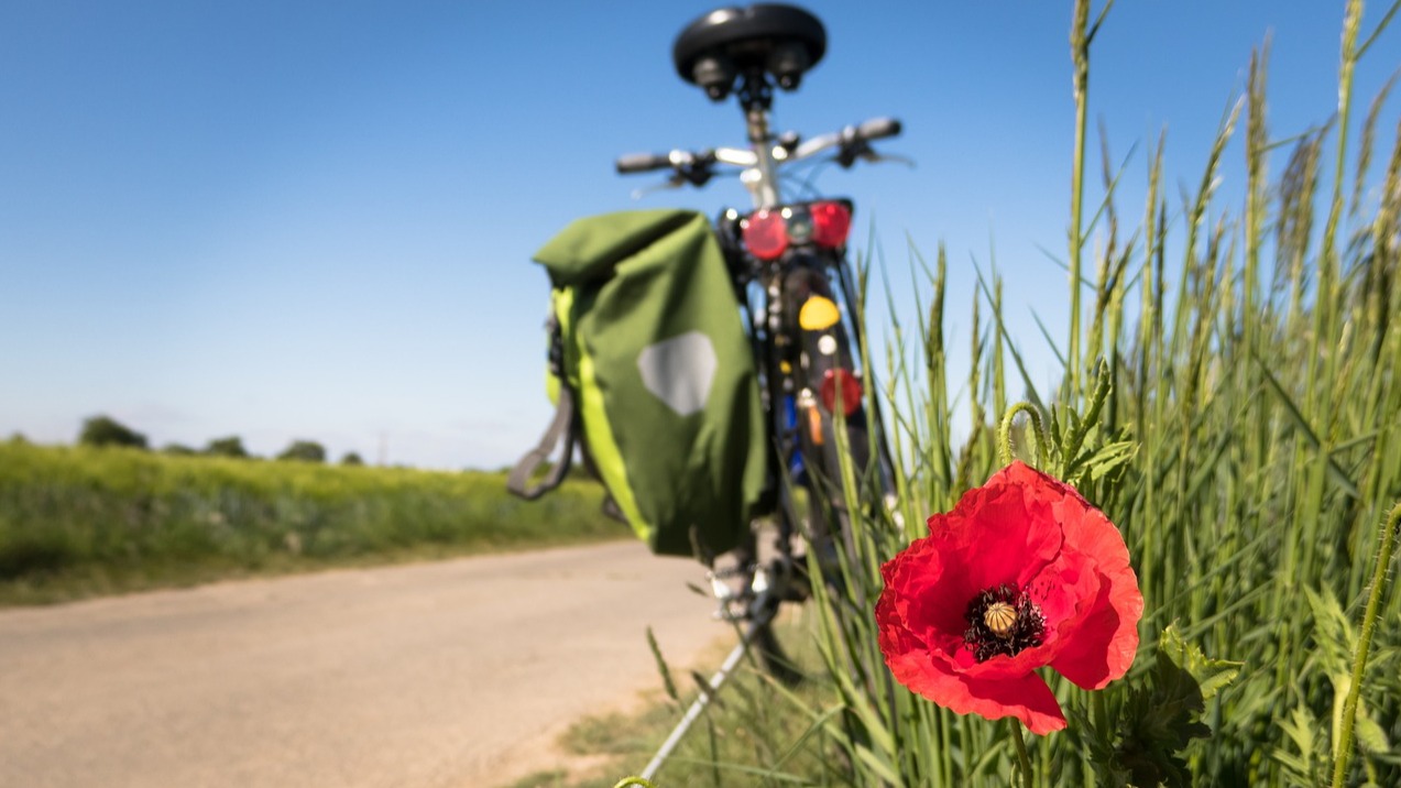
{"label": "green roll-top pannier bag with grey oval reflective patch", "polygon": [[[580,219],[535,252],[549,272],[553,423],[509,487],[558,487],[573,446],[660,555],[740,545],[766,480],[750,339],[724,257],[700,213]],[[563,442],[549,474],[531,477]]]}

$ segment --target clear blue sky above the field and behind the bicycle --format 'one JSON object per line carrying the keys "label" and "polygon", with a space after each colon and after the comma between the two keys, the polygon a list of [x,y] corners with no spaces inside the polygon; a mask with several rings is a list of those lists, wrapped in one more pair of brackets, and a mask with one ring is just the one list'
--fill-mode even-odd
{"label": "clear blue sky above the field and behind the bicycle", "polygon": [[[675,34],[713,6],[7,0],[0,437],[69,443],[109,414],[157,446],[238,435],[258,454],[312,439],[336,457],[509,464],[551,414],[531,254],[590,213],[745,203],[734,182],[633,201],[651,181],[612,168],[744,142],[738,108],[671,66]],[[806,135],[904,121],[883,150],[916,167],[818,179],[857,201],[860,245],[874,222],[901,283],[905,304],[877,317],[920,308],[906,237],[929,258],[943,243],[947,332],[964,348],[972,264],[995,248],[1044,380],[1055,369],[1028,313],[1066,322],[1066,275],[1041,250],[1063,255],[1069,220],[1070,6],[813,0],[828,55],[775,104],[776,128]],[[1142,213],[1163,128],[1171,193],[1195,186],[1267,32],[1271,135],[1327,121],[1342,11],[1119,0],[1091,55],[1090,114],[1115,157],[1139,146],[1121,210]],[[1369,3],[1363,28],[1384,11]],[[1362,64],[1363,107],[1398,63],[1401,24]],[[1227,209],[1240,158],[1233,144]]]}

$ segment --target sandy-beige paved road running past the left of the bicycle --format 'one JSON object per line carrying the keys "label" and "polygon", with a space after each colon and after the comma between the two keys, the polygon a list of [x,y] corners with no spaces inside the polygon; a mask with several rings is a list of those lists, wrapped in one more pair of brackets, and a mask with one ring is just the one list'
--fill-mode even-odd
{"label": "sandy-beige paved road running past the left of the bicycle", "polygon": [[[636,543],[0,610],[3,787],[483,787],[726,637]],[[640,768],[640,764],[639,764]]]}

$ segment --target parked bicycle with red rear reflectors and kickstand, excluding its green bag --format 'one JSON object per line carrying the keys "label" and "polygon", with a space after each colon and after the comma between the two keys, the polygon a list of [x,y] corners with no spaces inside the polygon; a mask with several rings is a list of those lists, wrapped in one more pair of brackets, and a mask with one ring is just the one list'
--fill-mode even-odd
{"label": "parked bicycle with red rear reflectors and kickstand, excluding its green bag", "polygon": [[[853,554],[853,505],[888,503],[891,496],[883,419],[876,397],[867,405],[860,363],[866,345],[853,320],[857,293],[846,259],[853,203],[845,198],[786,202],[779,175],[822,154],[843,168],[890,158],[870,143],[898,135],[901,126],[877,118],[803,140],[792,132],[773,135],[769,123],[773,87],[796,90],[825,49],[821,21],[793,6],[720,8],[695,20],[674,43],[677,73],[715,102],[737,98],[748,147],[642,153],[616,161],[619,174],[670,170],[664,185],[674,188],[702,188],[716,175],[737,175],[752,201],[748,212],[722,210],[715,231],[750,328],[773,468],[762,513],[776,523],[778,534],[772,559],[758,559],[757,530],[751,530],[751,544],[738,551],[736,566],[710,571],[719,616],[747,624],[741,644],[712,677],[712,690],[719,690],[747,646],[757,648],[779,680],[799,679],[773,631],[779,607],[806,599],[814,582],[831,582],[841,564],[838,551]],[[843,460],[856,481],[857,502],[846,499]],[[804,522],[794,487],[806,491],[807,541],[821,580],[811,578],[808,561],[794,551]],[[702,693],[643,777],[656,773],[712,694]]]}

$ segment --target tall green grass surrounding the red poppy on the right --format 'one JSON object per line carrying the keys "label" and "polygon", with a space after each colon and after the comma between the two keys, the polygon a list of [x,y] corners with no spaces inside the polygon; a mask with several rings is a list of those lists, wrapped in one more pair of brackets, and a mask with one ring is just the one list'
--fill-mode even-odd
{"label": "tall green grass surrounding the red poppy on the right", "polygon": [[[1058,446],[1079,446],[1069,461],[1047,470],[1119,526],[1146,602],[1140,658],[1128,681],[1094,698],[1052,681],[1070,728],[1028,742],[1040,784],[1114,781],[1087,766],[1094,745],[1083,731],[1124,709],[1124,686],[1142,677],[1159,635],[1174,623],[1206,655],[1244,663],[1206,708],[1210,739],[1185,750],[1191,784],[1321,785],[1335,763],[1349,784],[1401,784],[1401,593],[1394,587],[1379,600],[1370,659],[1356,663],[1360,687],[1352,679],[1377,541],[1394,537],[1380,524],[1401,501],[1401,128],[1379,128],[1384,94],[1353,128],[1352,95],[1353,70],[1397,6],[1374,31],[1360,28],[1362,6],[1349,0],[1345,7],[1331,122],[1293,140],[1272,139],[1262,48],[1195,192],[1181,202],[1164,193],[1160,142],[1149,157],[1146,193],[1135,198],[1140,226],[1125,230],[1118,212],[1125,195],[1108,165],[1104,203],[1082,227],[1086,86],[1098,25],[1087,0],[1075,3],[1072,324],[1068,346],[1052,348],[1063,363],[1062,383],[1054,391],[1033,386],[1021,362],[1026,346],[1005,328],[1000,282],[984,280],[974,294],[967,381],[972,429],[953,446],[943,250],[932,266],[919,262],[922,289],[932,296],[913,330],[891,325],[878,376],[887,383],[881,398],[899,509],[853,513],[846,587],[814,600],[825,680],[843,714],[775,694],[775,702],[792,704],[796,719],[814,721],[797,736],[828,742],[845,770],[771,781],[1012,784],[1009,728],[955,715],[895,684],[881,663],[870,610],[856,602],[880,595],[880,564],[923,536],[932,512],[950,509],[999,467],[996,422],[1007,391],[1023,388],[1045,411]],[[1394,142],[1380,151],[1381,182],[1367,184],[1379,135]],[[1271,181],[1268,160],[1281,153],[1288,167]],[[1348,161],[1356,161],[1355,171],[1346,171]],[[1222,178],[1244,179],[1244,206],[1222,205]],[[1377,193],[1374,205],[1363,199]],[[1098,238],[1093,254],[1091,237]],[[1082,258],[1094,269],[1086,280]],[[890,290],[885,297],[894,301]],[[894,303],[890,311],[899,313]],[[1028,430],[1019,430],[1031,460]],[[1348,766],[1335,759],[1348,740],[1351,688],[1359,690],[1359,749]]]}

